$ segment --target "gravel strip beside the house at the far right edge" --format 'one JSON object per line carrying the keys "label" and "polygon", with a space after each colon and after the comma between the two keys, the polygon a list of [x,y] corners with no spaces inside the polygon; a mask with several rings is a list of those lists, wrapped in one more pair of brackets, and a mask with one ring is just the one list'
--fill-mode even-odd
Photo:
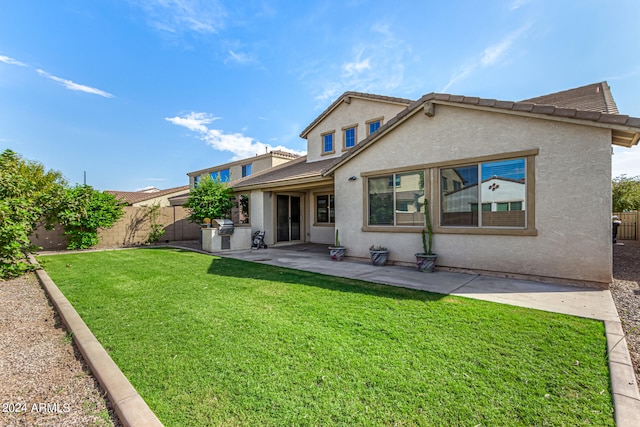
{"label": "gravel strip beside the house at the far right edge", "polygon": [[622,243],[613,246],[611,294],[627,334],[636,382],[640,384],[640,241]]}

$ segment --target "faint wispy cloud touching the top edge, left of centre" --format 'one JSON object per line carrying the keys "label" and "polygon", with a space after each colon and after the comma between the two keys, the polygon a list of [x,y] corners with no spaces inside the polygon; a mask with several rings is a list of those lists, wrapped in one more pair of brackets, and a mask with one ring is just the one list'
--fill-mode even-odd
{"label": "faint wispy cloud touching the top edge, left of centre", "polygon": [[169,33],[217,33],[227,15],[217,0],[139,0],[137,4],[153,27]]}

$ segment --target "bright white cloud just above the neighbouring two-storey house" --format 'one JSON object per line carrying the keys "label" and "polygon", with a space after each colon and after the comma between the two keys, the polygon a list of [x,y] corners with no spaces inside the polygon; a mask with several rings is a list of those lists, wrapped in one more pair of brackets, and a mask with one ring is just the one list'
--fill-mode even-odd
{"label": "bright white cloud just above the neighbouring two-storey house", "polygon": [[185,116],[167,117],[166,121],[187,129],[198,134],[199,138],[209,144],[216,150],[228,151],[233,153],[233,160],[244,159],[247,157],[262,154],[267,151],[282,150],[295,154],[304,154],[304,152],[292,150],[282,145],[272,146],[256,141],[249,136],[241,133],[225,133],[219,129],[210,129],[207,125],[217,120],[217,117],[207,113],[192,112]]}

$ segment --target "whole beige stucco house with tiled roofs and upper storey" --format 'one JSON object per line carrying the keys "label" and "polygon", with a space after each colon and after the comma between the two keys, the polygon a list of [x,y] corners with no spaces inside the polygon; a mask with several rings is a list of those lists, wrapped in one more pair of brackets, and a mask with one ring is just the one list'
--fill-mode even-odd
{"label": "whole beige stucco house with tiled roofs and upper storey", "polygon": [[441,269],[606,285],[612,276],[611,146],[640,119],[606,82],[520,102],[347,92],[301,134],[307,156],[232,183],[268,244],[421,252],[425,204]]}

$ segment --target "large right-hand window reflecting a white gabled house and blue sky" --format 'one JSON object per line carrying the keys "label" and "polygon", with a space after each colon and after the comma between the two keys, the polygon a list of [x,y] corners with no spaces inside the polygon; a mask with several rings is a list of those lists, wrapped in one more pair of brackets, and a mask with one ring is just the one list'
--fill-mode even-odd
{"label": "large right-hand window reflecting a white gabled house and blue sky", "polygon": [[526,176],[525,158],[440,168],[440,226],[525,228]]}

